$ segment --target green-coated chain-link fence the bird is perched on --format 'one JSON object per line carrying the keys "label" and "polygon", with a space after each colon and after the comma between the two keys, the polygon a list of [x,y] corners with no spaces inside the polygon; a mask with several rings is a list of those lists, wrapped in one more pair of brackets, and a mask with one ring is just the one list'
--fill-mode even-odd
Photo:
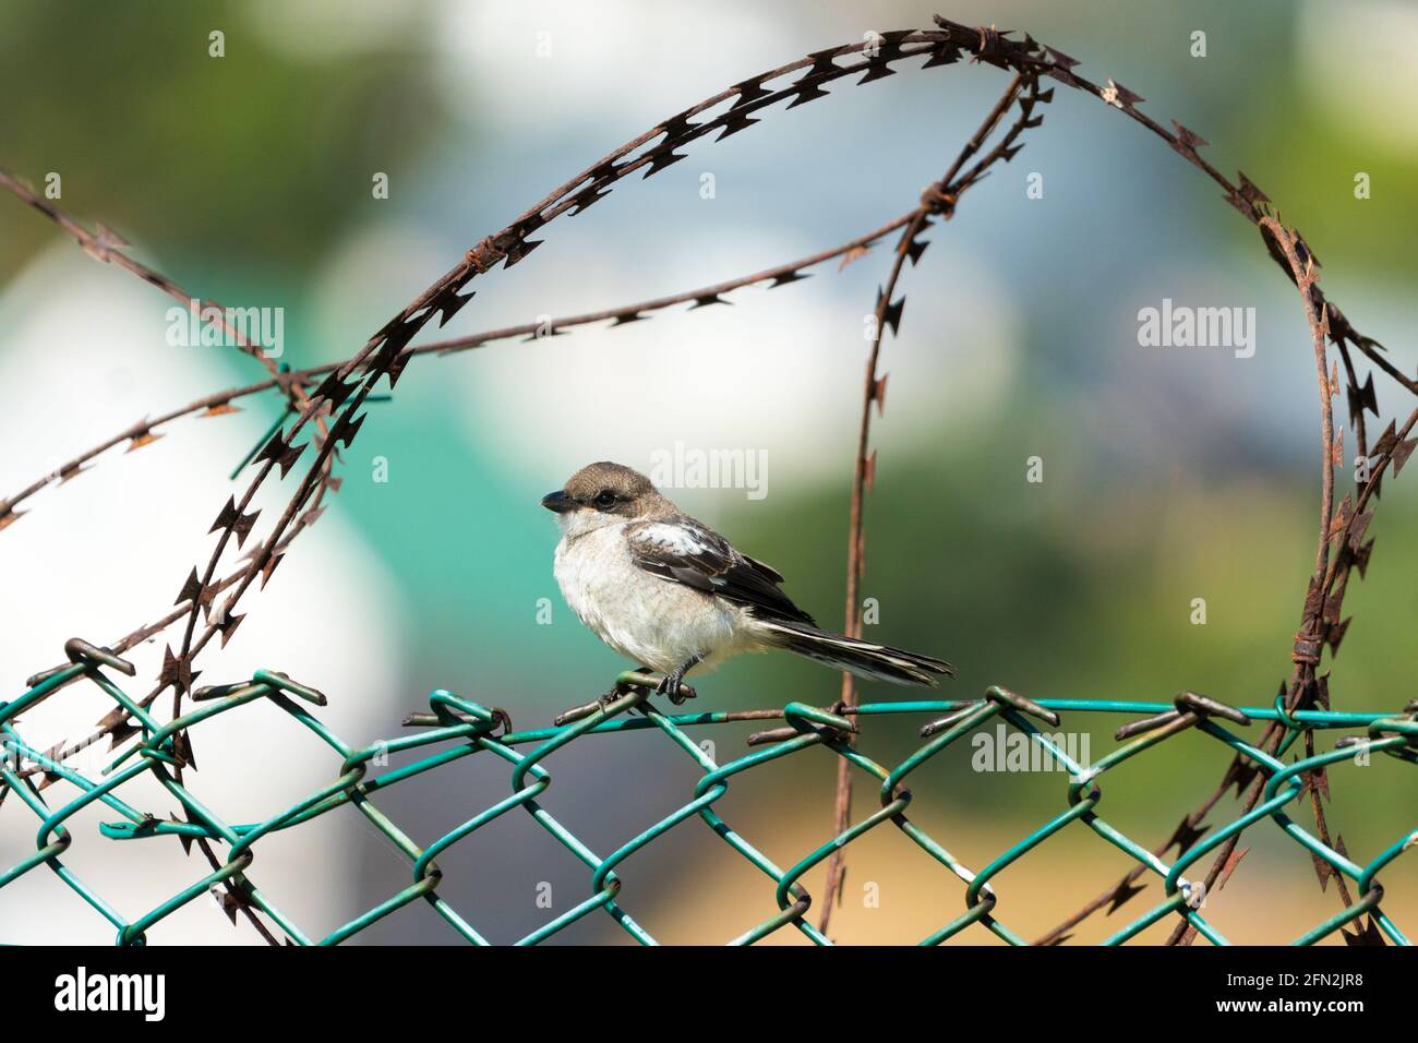
{"label": "green-coated chain-link fence the bird is perched on", "polygon": [[[530,815],[591,874],[588,897],[584,901],[537,927],[520,938],[518,945],[543,942],[597,911],[610,915],[635,941],[654,945],[654,935],[635,921],[621,904],[621,880],[617,877],[615,868],[669,830],[695,817],[767,876],[776,887],[778,912],[733,938],[730,941],[733,945],[753,944],[788,927],[815,944],[831,944],[821,931],[807,921],[805,914],[813,900],[800,881],[811,868],[827,860],[834,850],[856,841],[888,822],[964,884],[964,911],[927,934],[922,939],[923,945],[937,945],[960,935],[973,925],[978,925],[1012,945],[1027,944],[1017,931],[994,915],[1000,897],[990,881],[1073,822],[1083,823],[1163,881],[1166,898],[1113,934],[1105,944],[1126,942],[1157,921],[1173,917],[1185,920],[1208,941],[1225,945],[1228,944],[1225,937],[1200,911],[1198,898],[1204,888],[1200,888],[1195,881],[1187,880],[1184,873],[1205,854],[1265,817],[1269,817],[1312,857],[1353,880],[1358,891],[1357,901],[1305,931],[1295,939],[1296,945],[1317,942],[1366,914],[1370,915],[1366,932],[1377,935],[1381,931],[1390,941],[1408,945],[1408,939],[1398,925],[1380,908],[1384,890],[1377,876],[1407,850],[1418,846],[1418,830],[1400,837],[1367,864],[1360,864],[1344,851],[1322,843],[1296,824],[1285,813],[1285,807],[1303,795],[1309,772],[1332,763],[1357,761],[1361,755],[1374,752],[1383,752],[1408,763],[1418,763],[1418,701],[1409,702],[1398,714],[1288,711],[1282,694],[1276,697],[1272,707],[1236,710],[1193,692],[1183,692],[1171,705],[1112,700],[1041,700],[1035,702],[1004,688],[993,687],[984,698],[977,701],[876,702],[856,707],[838,705],[831,710],[788,702],[780,711],[664,714],[649,702],[655,678],[638,671],[628,671],[617,678],[617,695],[613,700],[596,705],[593,712],[571,724],[512,731],[510,721],[503,711],[438,690],[430,695],[430,714],[413,715],[406,721],[406,724],[421,727],[418,734],[367,746],[352,746],[320,724],[319,718],[308,708],[309,705],[325,705],[325,697],[313,688],[292,681],[285,674],[259,670],[251,681],[242,684],[200,688],[194,692],[196,707],[193,710],[177,719],[159,722],[109,675],[109,671],[132,675],[133,667],[129,663],[77,639],[71,640],[65,650],[72,660],[69,667],[37,680],[17,700],[0,704],[0,729],[4,732],[9,752],[9,756],[0,763],[0,779],[7,783],[7,790],[17,793],[40,820],[34,853],[0,873],[0,891],[44,866],[116,928],[116,944],[119,945],[145,944],[149,928],[224,883],[234,885],[244,901],[261,910],[291,941],[301,945],[340,944],[415,901],[431,905],[465,941],[488,945],[489,939],[438,895],[442,874],[435,860],[454,844],[516,809]],[[27,744],[16,728],[16,719],[27,707],[34,705],[57,688],[81,678],[92,681],[118,705],[132,714],[140,729],[142,741],[118,755],[101,772],[101,779],[86,778],[64,761],[40,752]],[[204,805],[187,785],[179,780],[173,771],[180,765],[174,739],[184,729],[230,714],[257,700],[267,700],[284,710],[291,718],[318,735],[342,761],[337,776],[329,785],[320,786],[264,822],[233,824],[220,817],[214,809]],[[1090,765],[1081,765],[1061,746],[1056,735],[1051,736],[1035,724],[1041,721],[1056,728],[1059,711],[1144,714],[1147,717],[1119,728],[1117,738],[1122,745],[1116,749]],[[861,718],[888,714],[940,715],[939,719],[920,729],[922,736],[927,739],[926,744],[895,768],[878,763],[848,741],[849,736],[856,735],[856,722]],[[749,738],[749,744],[753,746],[752,752],[723,765],[716,763],[685,731],[700,725],[773,718],[783,719],[784,727],[752,735]],[[961,738],[995,719],[1004,721],[1027,735],[1031,742],[1066,768],[1069,772],[1068,807],[998,854],[984,868],[976,871],[912,822],[908,816],[912,793],[903,783],[912,772],[927,761],[943,751],[957,748]],[[1285,739],[1275,754],[1259,749],[1222,724],[1249,725],[1255,721],[1275,722],[1286,729]],[[227,727],[234,727],[234,722],[228,721]],[[703,775],[693,788],[692,799],[683,806],[651,823],[610,854],[601,856],[542,806],[539,799],[552,786],[552,775],[545,762],[559,749],[586,735],[617,735],[640,729],[662,732],[703,771]],[[1098,813],[1103,798],[1099,778],[1117,765],[1188,729],[1200,731],[1248,759],[1255,769],[1263,773],[1266,783],[1262,800],[1251,810],[1207,839],[1184,846],[1180,857],[1168,864]],[[1326,752],[1305,756],[1290,763],[1282,761],[1302,735],[1333,729],[1360,729],[1361,734],[1340,738]],[[876,785],[881,809],[841,834],[831,837],[797,863],[781,868],[736,832],[715,810],[715,803],[727,793],[730,780],[736,775],[815,746],[831,751],[866,775]],[[387,763],[389,754],[406,751],[425,751],[425,754],[411,763],[393,768],[381,775],[370,775],[373,762]],[[479,810],[428,846],[421,847],[400,829],[398,823],[374,805],[374,798],[381,790],[479,752],[499,758],[510,766],[508,796]],[[17,768],[21,761],[37,765],[45,780],[71,785],[78,790],[78,795],[68,803],[51,806],[43,792],[44,785],[37,785],[34,780],[35,773],[24,776],[18,773]],[[140,775],[152,775],[157,779],[186,809],[187,820],[162,820],[128,803],[122,790]],[[176,837],[183,846],[190,846],[197,839],[206,839],[227,846],[225,863],[142,915],[132,917],[121,912],[64,864],[64,856],[74,844],[74,833],[65,826],[65,822],[94,803],[102,803],[121,816],[121,820],[104,823],[99,827],[99,833],[109,840],[135,841]],[[250,877],[250,870],[255,861],[257,843],[262,837],[279,830],[296,829],[346,805],[357,807],[383,836],[393,841],[394,847],[410,863],[411,878],[408,885],[397,894],[363,911],[323,938],[313,938],[257,887]],[[118,860],[108,860],[108,864],[116,863]],[[1377,931],[1374,929],[1375,924]],[[1373,941],[1381,939],[1373,938]]]}

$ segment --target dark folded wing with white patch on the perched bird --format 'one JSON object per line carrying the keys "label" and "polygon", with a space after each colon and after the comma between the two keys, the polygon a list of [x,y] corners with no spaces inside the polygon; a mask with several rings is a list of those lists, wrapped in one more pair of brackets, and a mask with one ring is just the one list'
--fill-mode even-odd
{"label": "dark folded wing with white patch on the perched bird", "polygon": [[693,518],[645,521],[625,529],[630,555],[651,575],[744,605],[767,619],[815,626],[778,589],[783,576],[733,549],[727,539]]}

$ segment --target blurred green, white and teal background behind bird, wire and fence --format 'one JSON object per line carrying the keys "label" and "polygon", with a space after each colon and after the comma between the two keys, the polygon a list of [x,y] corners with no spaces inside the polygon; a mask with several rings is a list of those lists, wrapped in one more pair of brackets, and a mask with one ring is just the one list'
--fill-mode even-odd
{"label": "blurred green, white and teal background behind bird, wire and fence", "polygon": [[[909,3],[383,4],[262,0],[129,4],[10,0],[0,7],[0,165],[58,206],[102,220],[132,254],[194,294],[285,309],[282,362],[350,355],[462,253],[658,121],[726,85],[871,30],[929,27]],[[1143,109],[1204,135],[1297,226],[1324,289],[1404,372],[1418,258],[1418,10],[1401,0],[1249,4],[1048,4],[956,0],[957,21],[1028,30],[1146,96]],[[220,30],[225,55],[208,57]],[[1193,33],[1205,57],[1193,57]],[[784,114],[648,182],[630,179],[478,297],[441,335],[648,299],[835,245],[916,204],[1004,88],[964,62]],[[1293,288],[1215,186],[1141,128],[1059,89],[1024,152],[937,226],[905,272],[876,491],[868,501],[868,636],[950,658],[947,697],[1004,684],[1034,698],[1170,701],[1183,688],[1268,704],[1313,565],[1319,485],[1314,365]],[[1371,177],[1356,199],[1354,177]],[[372,179],[389,177],[389,199]],[[713,175],[715,194],[700,196]],[[1042,197],[1027,194],[1031,175]],[[584,630],[552,578],[557,534],[537,507],[581,464],[649,470],[675,443],[767,461],[744,490],[674,490],[686,511],[788,578],[824,624],[842,622],[848,497],[868,343],[864,315],[885,278],[878,248],[838,272],[732,308],[683,308],[621,329],[420,358],[391,403],[372,407],[346,453],[345,485],[247,605],[231,644],[203,656],[201,683],[284,670],[330,695],[320,717],[359,745],[400,732],[432,688],[543,725],[603,691],[625,664]],[[1256,353],[1137,343],[1137,312],[1163,298],[1254,307]],[[140,416],[261,379],[230,349],[170,348],[170,301],[85,257],[50,221],[0,199],[0,494],[28,485]],[[1375,377],[1387,417],[1411,403]],[[204,562],[211,518],[242,454],[279,414],[184,420],[140,453],[45,490],[0,534],[0,670],[13,698],[62,660],[65,639],[112,641],[172,605]],[[1343,396],[1337,421],[1349,426]],[[1371,434],[1381,426],[1371,424]],[[1346,450],[1353,448],[1347,433]],[[1025,481],[1042,457],[1044,481]],[[379,460],[387,481],[377,481]],[[269,504],[284,488],[268,490]],[[1353,487],[1344,475],[1340,490]],[[1418,491],[1384,485],[1373,568],[1330,688],[1336,708],[1412,698],[1418,641]],[[268,515],[269,518],[269,515]],[[1193,599],[1207,622],[1194,624]],[[549,599],[550,624],[539,605]],[[174,637],[176,643],[176,637]],[[146,677],[163,641],[132,654]],[[136,690],[138,685],[135,685]],[[838,677],[786,656],[699,681],[696,708],[828,704]],[[865,685],[866,700],[898,695]],[[108,705],[69,690],[24,721],[35,742],[86,734]],[[194,734],[194,789],[228,822],[252,822],[329,782],[337,758],[274,708],[251,705]],[[1096,759],[1115,718],[1066,715]],[[872,721],[862,748],[896,763],[919,721]],[[705,731],[720,761],[749,728]],[[696,736],[699,736],[696,734]],[[815,752],[815,751],[814,751]],[[916,776],[912,816],[978,868],[1065,807],[1056,775],[970,769],[967,749]],[[1227,752],[1176,738],[1110,773],[1100,812],[1154,843],[1211,790]],[[692,796],[695,766],[662,736],[586,739],[559,754],[545,806],[608,853]],[[716,809],[781,866],[831,836],[834,758],[797,756],[733,782]],[[380,806],[420,843],[506,795],[501,762],[468,758],[390,790]],[[862,792],[862,790],[866,792]],[[858,786],[858,815],[875,806]],[[54,790],[51,790],[54,792]],[[1415,776],[1394,761],[1332,772],[1330,823],[1364,863],[1412,829]],[[166,816],[170,798],[152,788]],[[138,798],[135,802],[140,803]],[[1229,820],[1229,799],[1208,822]],[[206,873],[172,840],[113,844],[75,819],[67,863],[139,915]],[[1297,812],[1299,822],[1307,813]],[[0,807],[0,864],[33,851],[35,822]],[[1288,941],[1339,908],[1310,860],[1265,824],[1208,918],[1234,941]],[[841,941],[915,941],[963,910],[963,887],[898,832],[854,844]],[[440,894],[493,941],[513,941],[588,894],[587,871],[513,813],[440,857]],[[1028,937],[1110,887],[1129,861],[1082,826],[994,883],[997,915]],[[623,904],[657,938],[720,941],[773,910],[771,884],[700,823],[618,870]],[[312,934],[407,883],[407,867],[354,810],[258,846],[251,876]],[[1418,870],[1385,871],[1384,908],[1418,917]],[[821,870],[805,878],[820,893]],[[866,903],[875,884],[879,904]],[[1095,941],[1139,915],[1147,891],[1076,934]],[[0,891],[6,941],[111,939],[48,873]],[[1164,924],[1146,938],[1160,941]],[[199,901],[152,941],[255,941]],[[415,904],[362,941],[447,942]],[[560,941],[625,942],[596,915]],[[774,941],[801,941],[778,932]],[[961,941],[988,942],[980,928]]]}

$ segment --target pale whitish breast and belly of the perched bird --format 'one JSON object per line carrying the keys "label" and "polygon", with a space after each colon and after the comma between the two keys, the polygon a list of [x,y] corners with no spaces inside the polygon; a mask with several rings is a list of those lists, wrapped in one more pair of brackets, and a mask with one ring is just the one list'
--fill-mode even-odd
{"label": "pale whitish breast and belly of the perched bird", "polygon": [[703,673],[752,647],[740,607],[637,568],[624,524],[563,536],[554,572],[580,620],[641,666],[668,673],[698,657]]}

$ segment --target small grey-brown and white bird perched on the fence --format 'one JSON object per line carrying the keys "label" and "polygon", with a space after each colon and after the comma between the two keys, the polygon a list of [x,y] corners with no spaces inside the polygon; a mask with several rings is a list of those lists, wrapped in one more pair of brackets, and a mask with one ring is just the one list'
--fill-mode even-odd
{"label": "small grey-brown and white bird perched on the fence", "polygon": [[746,651],[786,649],[837,670],[934,685],[949,663],[820,629],[778,587],[783,576],[739,553],[623,464],[588,464],[542,498],[562,524],[556,582],[597,637],[664,674],[681,701],[691,670]]}

